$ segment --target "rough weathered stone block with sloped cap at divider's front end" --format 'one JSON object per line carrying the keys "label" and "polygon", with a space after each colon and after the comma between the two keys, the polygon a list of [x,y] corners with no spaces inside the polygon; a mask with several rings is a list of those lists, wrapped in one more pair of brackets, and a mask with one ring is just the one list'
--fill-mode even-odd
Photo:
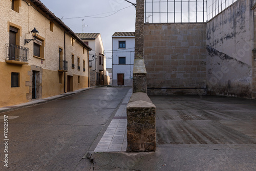
{"label": "rough weathered stone block with sloped cap at divider's front end", "polygon": [[156,150],[156,106],[146,93],[134,93],[127,104],[127,152]]}

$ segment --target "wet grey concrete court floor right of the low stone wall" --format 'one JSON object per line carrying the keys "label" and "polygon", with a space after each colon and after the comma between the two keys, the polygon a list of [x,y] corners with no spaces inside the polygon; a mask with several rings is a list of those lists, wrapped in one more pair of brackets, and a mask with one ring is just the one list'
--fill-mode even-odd
{"label": "wet grey concrete court floor right of the low stone wall", "polygon": [[95,170],[256,170],[256,101],[216,96],[150,96],[157,149],[94,153]]}

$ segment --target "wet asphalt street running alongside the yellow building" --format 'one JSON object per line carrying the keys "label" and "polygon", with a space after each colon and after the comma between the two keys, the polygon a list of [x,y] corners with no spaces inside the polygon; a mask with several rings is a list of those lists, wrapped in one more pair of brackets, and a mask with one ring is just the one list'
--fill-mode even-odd
{"label": "wet asphalt street running alongside the yellow building", "polygon": [[[0,169],[90,170],[90,160],[81,159],[103,135],[128,90],[94,88],[0,114]],[[3,164],[4,115],[8,116],[9,169]]]}

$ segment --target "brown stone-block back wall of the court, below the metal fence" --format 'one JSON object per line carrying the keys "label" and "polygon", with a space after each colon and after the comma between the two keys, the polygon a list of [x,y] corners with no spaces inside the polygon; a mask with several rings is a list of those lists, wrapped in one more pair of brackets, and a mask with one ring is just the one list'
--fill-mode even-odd
{"label": "brown stone-block back wall of the court, below the metal fence", "polygon": [[148,94],[205,94],[206,24],[145,24]]}

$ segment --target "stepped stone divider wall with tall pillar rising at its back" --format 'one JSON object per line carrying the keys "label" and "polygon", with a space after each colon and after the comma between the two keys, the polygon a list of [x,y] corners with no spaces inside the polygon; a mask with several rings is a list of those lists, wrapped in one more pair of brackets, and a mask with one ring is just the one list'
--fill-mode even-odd
{"label": "stepped stone divider wall with tall pillar rising at its back", "polygon": [[156,151],[156,106],[146,94],[144,0],[137,0],[133,95],[127,104],[127,152]]}

